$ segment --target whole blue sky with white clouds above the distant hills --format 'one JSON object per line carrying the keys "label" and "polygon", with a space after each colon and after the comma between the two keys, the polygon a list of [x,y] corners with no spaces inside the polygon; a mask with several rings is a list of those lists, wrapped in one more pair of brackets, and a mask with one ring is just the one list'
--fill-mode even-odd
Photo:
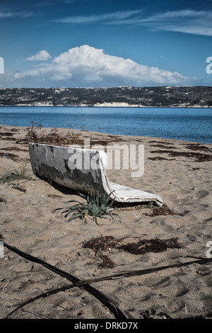
{"label": "whole blue sky with white clouds above the distant hills", "polygon": [[212,83],[212,0],[0,0],[0,31],[0,87]]}

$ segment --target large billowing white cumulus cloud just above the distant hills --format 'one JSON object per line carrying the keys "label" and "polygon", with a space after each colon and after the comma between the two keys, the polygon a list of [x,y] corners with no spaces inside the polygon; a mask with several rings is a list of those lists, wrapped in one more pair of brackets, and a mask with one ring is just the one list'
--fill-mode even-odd
{"label": "large billowing white cumulus cloud just above the distant hills", "polygon": [[[177,72],[148,67],[130,59],[106,55],[103,50],[83,45],[73,47],[26,72],[4,77],[11,86],[155,86],[187,85],[192,79]],[[2,77],[0,85],[2,84]],[[3,85],[4,86],[4,85]]]}

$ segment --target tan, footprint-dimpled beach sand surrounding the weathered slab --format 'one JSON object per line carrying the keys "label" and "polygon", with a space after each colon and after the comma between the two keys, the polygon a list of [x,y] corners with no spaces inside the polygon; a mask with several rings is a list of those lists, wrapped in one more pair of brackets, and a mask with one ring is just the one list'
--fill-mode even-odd
{"label": "tan, footprint-dimpled beach sand surrounding the weathered slab", "polygon": [[[110,169],[107,176],[118,184],[158,194],[163,198],[163,207],[170,209],[167,215],[160,215],[153,208],[122,207],[119,209],[122,222],[118,218],[106,218],[97,225],[91,219],[88,223],[80,218],[67,222],[61,210],[57,210],[66,208],[66,201],[83,199],[74,191],[33,175],[28,144],[21,142],[28,128],[1,125],[0,130],[1,175],[5,170],[17,169],[26,159],[32,176],[27,181],[0,184],[1,246],[5,242],[80,280],[211,256],[212,249],[207,245],[212,242],[212,145],[73,130],[81,139],[89,138],[92,144],[144,145],[142,177],[132,177],[130,169]],[[84,247],[85,242],[106,236],[114,237],[122,245],[142,239],[177,239],[180,247],[143,254],[129,253],[115,246],[99,252]],[[103,258],[107,259],[106,264]],[[111,265],[107,266],[108,263]],[[40,298],[11,313],[20,303],[71,282],[6,247],[0,267],[1,319],[7,316],[16,319],[115,318],[94,295],[77,287]],[[110,298],[129,320],[211,318],[211,267],[211,262],[188,264],[141,276],[95,282],[92,286]]]}

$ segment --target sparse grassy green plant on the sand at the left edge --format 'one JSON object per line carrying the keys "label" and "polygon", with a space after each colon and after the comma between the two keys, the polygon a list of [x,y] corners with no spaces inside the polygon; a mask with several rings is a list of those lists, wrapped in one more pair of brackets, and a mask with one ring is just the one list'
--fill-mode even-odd
{"label": "sparse grassy green plant on the sand at the left edge", "polygon": [[27,161],[25,159],[17,169],[5,170],[1,175],[0,183],[10,183],[11,181],[19,181],[21,179],[30,180],[31,176],[29,173],[30,171],[28,170]]}

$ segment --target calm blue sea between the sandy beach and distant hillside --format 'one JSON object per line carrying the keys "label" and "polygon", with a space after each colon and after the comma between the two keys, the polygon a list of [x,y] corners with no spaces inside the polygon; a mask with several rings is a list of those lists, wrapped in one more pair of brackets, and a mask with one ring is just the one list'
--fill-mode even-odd
{"label": "calm blue sea between the sandy beach and distant hillside", "polygon": [[0,106],[0,124],[72,128],[212,144],[212,108]]}

